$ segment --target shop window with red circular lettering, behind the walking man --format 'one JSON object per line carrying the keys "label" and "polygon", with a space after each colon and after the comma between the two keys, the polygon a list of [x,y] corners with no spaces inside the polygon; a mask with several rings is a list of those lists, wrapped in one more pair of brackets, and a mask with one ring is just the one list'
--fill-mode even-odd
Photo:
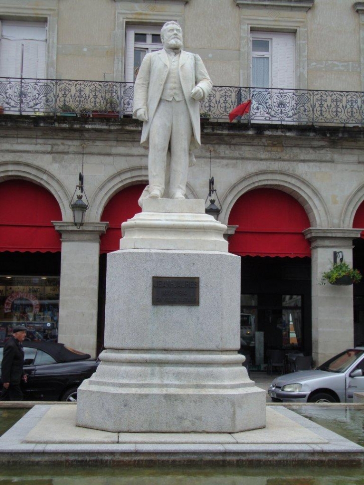
{"label": "shop window with red circular lettering, behind the walking man", "polygon": [[0,276],[0,342],[15,325],[31,341],[57,340],[59,277]]}

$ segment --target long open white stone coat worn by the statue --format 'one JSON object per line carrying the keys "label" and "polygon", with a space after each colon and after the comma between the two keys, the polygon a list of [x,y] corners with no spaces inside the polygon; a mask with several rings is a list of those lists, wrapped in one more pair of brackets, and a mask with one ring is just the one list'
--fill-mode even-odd
{"label": "long open white stone coat worn by the statue", "polygon": [[[134,84],[134,108],[133,116],[140,108],[147,109],[148,122],[143,123],[142,138],[140,143],[148,146],[149,131],[158,103],[161,99],[163,88],[170,69],[167,52],[162,49],[147,54],[140,66],[137,79]],[[201,145],[199,124],[199,102],[191,98],[191,91],[199,86],[203,91],[203,98],[211,92],[212,82],[199,55],[181,50],[179,74],[184,99],[187,104],[193,135],[190,150],[199,148]]]}

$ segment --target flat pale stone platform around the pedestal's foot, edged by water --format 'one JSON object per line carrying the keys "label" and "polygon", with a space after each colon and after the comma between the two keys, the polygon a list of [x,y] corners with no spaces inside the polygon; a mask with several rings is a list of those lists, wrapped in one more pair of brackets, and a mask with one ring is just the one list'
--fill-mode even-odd
{"label": "flat pale stone platform around the pedestal's foot, edged by water", "polygon": [[34,406],[0,438],[0,463],[364,462],[364,448],[283,406],[267,406],[266,428],[232,434],[111,433],[76,427],[75,416],[76,405]]}

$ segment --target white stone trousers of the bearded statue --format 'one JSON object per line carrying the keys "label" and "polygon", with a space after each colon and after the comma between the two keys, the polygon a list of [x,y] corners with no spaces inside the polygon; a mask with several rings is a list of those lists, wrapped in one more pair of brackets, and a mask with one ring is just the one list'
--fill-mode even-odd
{"label": "white stone trousers of the bearded statue", "polygon": [[192,124],[186,102],[161,99],[149,132],[149,191],[165,191],[167,152],[170,148],[170,197],[184,196]]}

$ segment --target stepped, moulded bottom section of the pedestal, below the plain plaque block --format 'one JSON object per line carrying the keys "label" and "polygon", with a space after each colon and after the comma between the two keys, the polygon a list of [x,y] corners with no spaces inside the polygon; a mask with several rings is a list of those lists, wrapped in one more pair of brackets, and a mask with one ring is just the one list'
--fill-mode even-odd
{"label": "stepped, moulded bottom section of the pedestal, below the plain plaque block", "polygon": [[236,352],[107,351],[78,391],[77,425],[117,432],[234,433],[265,426],[265,391]]}

